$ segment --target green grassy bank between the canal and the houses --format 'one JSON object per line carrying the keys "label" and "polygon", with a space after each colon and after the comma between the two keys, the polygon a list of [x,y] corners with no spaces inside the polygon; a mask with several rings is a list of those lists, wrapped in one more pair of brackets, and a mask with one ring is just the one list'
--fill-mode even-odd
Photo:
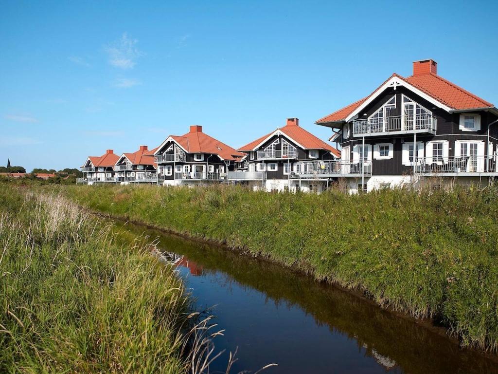
{"label": "green grassy bank between the canal and the houses", "polygon": [[239,187],[64,187],[89,208],[242,248],[498,349],[498,191],[347,195]]}

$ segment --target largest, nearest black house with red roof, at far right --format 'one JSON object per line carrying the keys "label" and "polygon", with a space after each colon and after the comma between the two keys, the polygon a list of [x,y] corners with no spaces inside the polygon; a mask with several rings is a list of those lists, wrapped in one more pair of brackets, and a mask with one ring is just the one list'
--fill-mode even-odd
{"label": "largest, nearest black house with red roof, at far right", "polygon": [[442,78],[434,60],[393,73],[367,97],[316,121],[341,143],[351,191],[498,176],[498,110]]}

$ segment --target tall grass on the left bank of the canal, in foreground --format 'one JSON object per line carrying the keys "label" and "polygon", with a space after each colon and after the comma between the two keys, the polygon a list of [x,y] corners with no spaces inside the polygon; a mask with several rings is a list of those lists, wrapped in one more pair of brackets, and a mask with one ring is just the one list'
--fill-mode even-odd
{"label": "tall grass on the left bank of the canal, in foreground", "polygon": [[2,184],[0,373],[202,373],[206,321],[136,243],[58,194]]}

